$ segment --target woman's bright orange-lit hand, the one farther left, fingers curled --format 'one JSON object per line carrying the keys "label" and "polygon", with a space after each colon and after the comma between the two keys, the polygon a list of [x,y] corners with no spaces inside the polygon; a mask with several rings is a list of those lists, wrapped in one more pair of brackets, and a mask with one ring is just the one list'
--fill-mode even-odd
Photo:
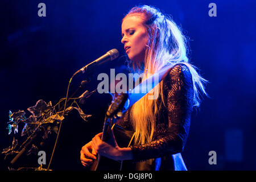
{"label": "woman's bright orange-lit hand, the one farther left, fingers curled", "polygon": [[94,150],[94,148],[92,147],[92,141],[82,147],[80,154],[80,160],[82,165],[85,167],[90,166],[90,164],[92,164],[93,162],[92,159],[96,159],[97,155],[96,150]]}

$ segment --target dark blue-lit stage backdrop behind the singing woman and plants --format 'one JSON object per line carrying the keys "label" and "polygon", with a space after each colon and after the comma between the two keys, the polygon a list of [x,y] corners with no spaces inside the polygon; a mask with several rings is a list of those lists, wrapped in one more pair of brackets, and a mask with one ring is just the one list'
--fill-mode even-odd
{"label": "dark blue-lit stage backdrop behind the singing woman and plants", "polygon": [[[46,17],[38,4],[46,4]],[[56,104],[65,97],[69,78],[77,69],[121,44],[121,20],[135,5],[153,5],[171,14],[190,38],[190,59],[209,80],[200,110],[193,112],[187,145],[182,153],[189,170],[256,169],[255,1],[214,1],[217,16],[210,17],[212,1],[1,1],[1,114],[0,149],[8,147],[13,133],[6,127],[9,110],[34,106],[36,101]],[[122,59],[97,70],[122,72]],[[83,80],[74,78],[72,90]],[[86,87],[96,88],[97,78]],[[101,131],[111,97],[94,94],[82,109],[92,114],[88,122],[76,112],[63,122],[53,156],[53,170],[86,170],[80,149]],[[19,132],[22,127],[19,127]],[[52,135],[44,150],[47,164],[55,142]],[[209,151],[217,164],[210,165]],[[20,165],[37,164],[28,156]],[[6,166],[1,155],[1,169]]]}

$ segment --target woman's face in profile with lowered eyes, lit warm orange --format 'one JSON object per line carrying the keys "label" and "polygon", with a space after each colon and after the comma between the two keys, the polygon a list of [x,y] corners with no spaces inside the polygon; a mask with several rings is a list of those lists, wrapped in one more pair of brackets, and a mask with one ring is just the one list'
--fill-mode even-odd
{"label": "woman's face in profile with lowered eyes, lit warm orange", "polygon": [[144,61],[148,36],[143,26],[142,14],[128,15],[122,23],[122,40],[130,60],[137,64]]}

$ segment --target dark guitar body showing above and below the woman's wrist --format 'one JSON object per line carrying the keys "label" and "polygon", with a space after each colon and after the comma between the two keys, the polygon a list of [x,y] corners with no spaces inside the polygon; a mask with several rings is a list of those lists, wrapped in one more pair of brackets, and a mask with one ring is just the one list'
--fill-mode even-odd
{"label": "dark guitar body showing above and below the woman's wrist", "polygon": [[[127,131],[118,125],[114,125],[113,131],[119,147],[128,147],[129,143],[132,142],[133,131]],[[96,160],[93,160],[90,167],[91,171],[133,171],[134,169],[135,165],[130,160],[123,160],[123,162],[121,162],[99,155]]]}

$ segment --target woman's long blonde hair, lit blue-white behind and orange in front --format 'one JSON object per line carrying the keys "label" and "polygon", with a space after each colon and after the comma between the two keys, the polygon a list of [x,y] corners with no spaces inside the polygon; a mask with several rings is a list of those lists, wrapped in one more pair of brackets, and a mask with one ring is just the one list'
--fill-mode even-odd
{"label": "woman's long blonde hair, lit blue-white behind and orange in front", "polygon": [[[144,72],[142,80],[145,80],[149,74],[154,74],[166,65],[174,66],[178,63],[183,63],[187,65],[192,75],[194,90],[193,106],[199,107],[199,90],[207,95],[204,87],[204,82],[207,82],[207,80],[197,73],[195,66],[188,63],[188,43],[180,28],[177,27],[170,16],[164,15],[152,6],[133,7],[126,16],[133,14],[144,15],[141,17],[144,18],[143,24],[148,33],[144,63],[136,68],[138,72],[138,69],[142,69],[141,71]],[[135,69],[135,64],[133,64],[133,67]],[[161,104],[157,102],[158,100],[149,100],[146,95],[131,107],[131,121],[136,132],[135,144],[144,144],[152,141],[155,131],[156,113],[162,105],[165,105],[163,81],[159,82],[156,87],[159,89]]]}

